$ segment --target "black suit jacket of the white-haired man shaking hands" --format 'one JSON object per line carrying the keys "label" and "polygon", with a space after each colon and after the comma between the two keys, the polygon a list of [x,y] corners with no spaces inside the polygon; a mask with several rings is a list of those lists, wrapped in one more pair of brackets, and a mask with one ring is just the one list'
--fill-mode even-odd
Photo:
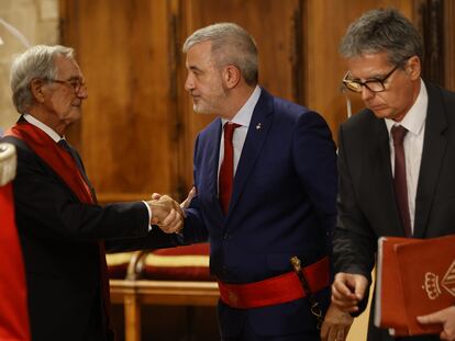
{"label": "black suit jacket of the white-haired man shaking hands", "polygon": [[[147,237],[147,247],[151,240],[158,246],[162,236],[158,229],[148,232],[146,206],[142,202],[104,207],[84,204],[23,141],[14,137],[3,140],[18,150],[15,218],[33,341],[109,339],[103,323],[98,241],[135,237],[131,239],[133,248],[142,236]],[[129,240],[122,241],[127,246]],[[113,245],[119,249],[119,240]]]}

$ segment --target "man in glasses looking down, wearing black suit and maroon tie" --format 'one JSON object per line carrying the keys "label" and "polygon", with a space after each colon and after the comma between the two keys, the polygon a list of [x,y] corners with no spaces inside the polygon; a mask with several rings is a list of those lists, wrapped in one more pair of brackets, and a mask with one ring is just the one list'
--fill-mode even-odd
{"label": "man in glasses looking down, wearing black suit and maroon tie", "polygon": [[[422,50],[415,27],[391,9],[365,13],[341,43],[343,83],[366,106],[339,134],[332,302],[353,315],[368,302],[380,236],[455,232],[455,94],[421,79]],[[419,321],[443,332],[409,340],[455,339],[455,307]],[[342,339],[325,328],[329,340]],[[368,340],[393,338],[370,318]]]}

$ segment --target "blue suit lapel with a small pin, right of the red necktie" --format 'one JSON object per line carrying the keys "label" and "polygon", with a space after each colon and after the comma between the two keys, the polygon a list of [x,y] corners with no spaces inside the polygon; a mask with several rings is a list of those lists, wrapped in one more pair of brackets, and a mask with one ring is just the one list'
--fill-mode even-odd
{"label": "blue suit lapel with a small pin, right of the red necktie", "polygon": [[264,89],[253,111],[245,144],[235,172],[231,203],[226,218],[231,215],[256,164],[257,158],[273,123],[274,98]]}

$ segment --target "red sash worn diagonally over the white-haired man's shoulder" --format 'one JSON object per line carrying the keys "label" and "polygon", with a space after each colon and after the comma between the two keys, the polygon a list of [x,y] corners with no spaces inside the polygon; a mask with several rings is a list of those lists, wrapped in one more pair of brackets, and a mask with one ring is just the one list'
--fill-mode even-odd
{"label": "red sash worn diagonally over the white-haired man's shoulder", "polygon": [[[5,136],[14,136],[23,140],[48,167],[51,167],[77,197],[86,204],[96,204],[96,198],[82,174],[77,167],[76,160],[45,132],[30,124],[29,122],[19,122],[9,130]],[[110,293],[108,279],[108,264],[106,262],[104,242],[98,242],[100,253],[100,273],[102,298],[104,312],[108,319],[107,327],[110,328]],[[1,340],[0,340],[1,341]]]}

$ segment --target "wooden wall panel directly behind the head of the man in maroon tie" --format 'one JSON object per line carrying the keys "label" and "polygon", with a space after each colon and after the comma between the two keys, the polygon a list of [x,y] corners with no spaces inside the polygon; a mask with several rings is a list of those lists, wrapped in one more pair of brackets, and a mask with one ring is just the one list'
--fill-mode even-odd
{"label": "wooden wall panel directly behind the head of the man in maroon tie", "polygon": [[[349,23],[367,10],[393,7],[408,15],[413,14],[413,0],[307,0],[303,36],[306,104],[321,113],[332,132],[346,120],[346,98],[341,92],[341,80],[346,72],[339,54],[339,44]],[[356,94],[349,94],[353,113],[363,107]]]}

